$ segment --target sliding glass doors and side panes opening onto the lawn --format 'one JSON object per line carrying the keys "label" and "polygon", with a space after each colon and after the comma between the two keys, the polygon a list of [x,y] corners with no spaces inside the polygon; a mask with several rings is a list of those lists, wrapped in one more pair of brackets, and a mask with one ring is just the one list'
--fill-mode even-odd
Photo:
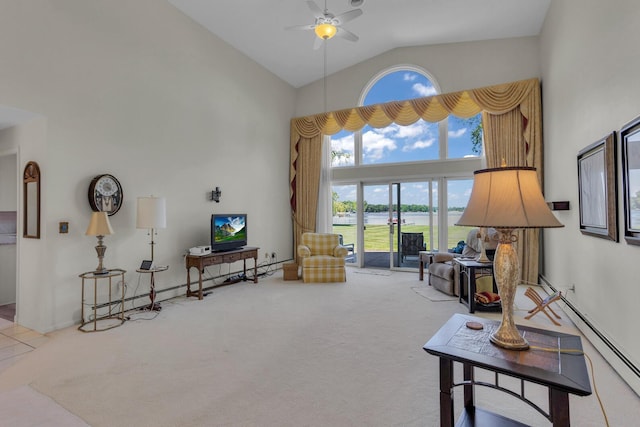
{"label": "sliding glass doors and side panes opening onto the lawn", "polygon": [[[447,252],[465,240],[456,226],[472,179],[434,178],[332,186],[332,232],[358,267],[415,270],[419,252]],[[440,209],[442,206],[442,210]]]}

